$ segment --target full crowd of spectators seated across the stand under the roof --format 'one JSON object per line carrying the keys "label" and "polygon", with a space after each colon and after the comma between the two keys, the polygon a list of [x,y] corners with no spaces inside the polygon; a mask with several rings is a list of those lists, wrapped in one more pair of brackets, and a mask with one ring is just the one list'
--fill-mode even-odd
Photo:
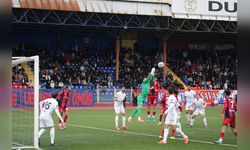
{"label": "full crowd of spectators seated across the stand under the roof", "polygon": [[[78,85],[125,85],[139,86],[151,68],[162,60],[159,50],[143,54],[122,48],[120,52],[119,80],[115,80],[115,51],[107,49],[96,52],[93,48],[68,48],[66,51],[53,51],[48,47],[13,45],[13,55],[39,55],[40,81],[42,88],[62,88],[67,84]],[[35,51],[36,50],[36,51]],[[235,51],[213,50],[169,50],[167,65],[188,86],[197,89],[237,89],[237,59]],[[162,86],[183,85],[174,80],[171,74],[163,81],[163,72],[156,73]],[[21,65],[13,68],[15,84],[27,85],[27,74]]]}

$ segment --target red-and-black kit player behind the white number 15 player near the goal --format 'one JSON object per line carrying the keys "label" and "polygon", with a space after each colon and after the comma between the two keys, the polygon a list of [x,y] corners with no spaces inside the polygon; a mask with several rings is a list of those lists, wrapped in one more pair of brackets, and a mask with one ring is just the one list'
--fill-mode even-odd
{"label": "red-and-black kit player behind the white number 15 player near the goal", "polygon": [[[69,104],[69,98],[70,98],[70,91],[71,91],[71,86],[68,86],[67,89],[62,90],[57,96],[58,103],[59,103],[59,112],[61,116],[64,115],[64,119],[63,119],[64,123],[66,123],[68,120],[68,104]],[[63,129],[60,119],[59,119],[58,127],[60,129]],[[64,127],[66,128],[66,126]]]}

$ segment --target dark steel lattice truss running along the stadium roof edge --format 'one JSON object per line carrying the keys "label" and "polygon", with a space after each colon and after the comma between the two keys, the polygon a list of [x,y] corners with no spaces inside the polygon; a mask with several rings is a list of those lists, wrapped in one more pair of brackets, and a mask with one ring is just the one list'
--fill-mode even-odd
{"label": "dark steel lattice truss running along the stadium roof edge", "polygon": [[20,8],[13,9],[12,23],[177,32],[237,33],[237,22],[232,21]]}

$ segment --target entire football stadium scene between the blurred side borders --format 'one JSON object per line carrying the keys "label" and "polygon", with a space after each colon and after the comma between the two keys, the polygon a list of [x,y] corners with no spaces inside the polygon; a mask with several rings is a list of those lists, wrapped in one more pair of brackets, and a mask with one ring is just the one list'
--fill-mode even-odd
{"label": "entire football stadium scene between the blurred side borders", "polygon": [[12,149],[237,149],[236,0],[12,0]]}

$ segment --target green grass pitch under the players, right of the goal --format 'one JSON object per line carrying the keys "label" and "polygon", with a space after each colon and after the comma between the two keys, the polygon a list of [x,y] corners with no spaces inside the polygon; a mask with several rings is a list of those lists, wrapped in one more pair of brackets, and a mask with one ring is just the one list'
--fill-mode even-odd
{"label": "green grass pitch under the players, right of the goal", "polygon": [[[220,108],[208,108],[206,110],[208,128],[203,127],[202,119],[196,118],[194,127],[188,127],[184,113],[182,113],[182,128],[189,136],[187,145],[182,140],[168,140],[166,145],[159,145],[158,135],[162,125],[157,123],[139,124],[135,120],[130,124],[127,122],[129,131],[114,130],[113,110],[70,110],[67,129],[61,131],[56,129],[56,146],[50,146],[49,130],[41,137],[42,149],[58,150],[157,150],[162,148],[185,149],[185,150],[212,150],[212,149],[237,149],[237,139],[227,129],[225,133],[225,144],[214,145],[210,142],[217,140],[220,131],[221,116]],[[127,110],[129,115],[131,110]],[[157,112],[157,118],[159,110]],[[55,114],[54,114],[55,117]],[[146,117],[146,110],[143,110]],[[120,118],[121,120],[121,118]],[[121,121],[120,121],[121,124]]]}

